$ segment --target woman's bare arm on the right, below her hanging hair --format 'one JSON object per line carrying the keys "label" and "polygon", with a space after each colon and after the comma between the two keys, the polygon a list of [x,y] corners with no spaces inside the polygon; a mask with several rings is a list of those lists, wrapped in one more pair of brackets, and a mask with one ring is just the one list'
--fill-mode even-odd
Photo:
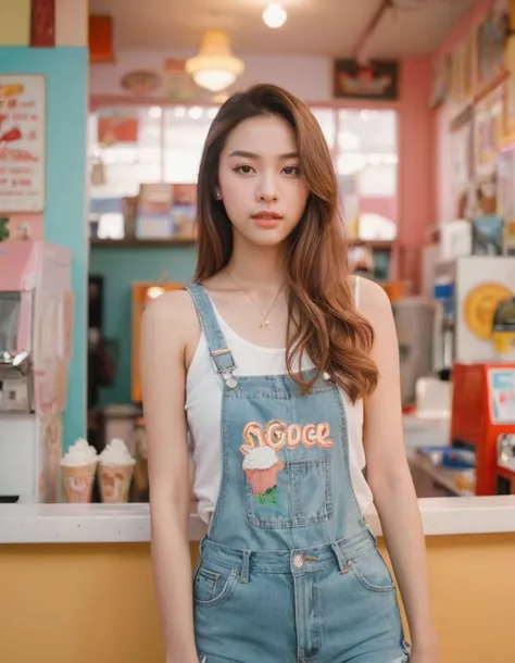
{"label": "woman's bare arm on the right, below her hanging hair", "polygon": [[399,580],[413,653],[416,661],[432,663],[437,661],[437,637],[424,531],[404,448],[397,330],[390,301],[380,286],[362,279],[360,311],[375,330],[373,358],[379,371],[377,389],[365,401],[367,480]]}

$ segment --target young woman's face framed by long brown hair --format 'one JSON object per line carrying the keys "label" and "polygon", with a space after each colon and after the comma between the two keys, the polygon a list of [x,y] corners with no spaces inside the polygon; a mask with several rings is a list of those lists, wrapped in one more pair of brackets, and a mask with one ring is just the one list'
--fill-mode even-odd
{"label": "young woman's face framed by long brown hair", "polygon": [[309,196],[291,126],[277,115],[241,122],[222,151],[218,185],[235,234],[260,246],[281,243]]}

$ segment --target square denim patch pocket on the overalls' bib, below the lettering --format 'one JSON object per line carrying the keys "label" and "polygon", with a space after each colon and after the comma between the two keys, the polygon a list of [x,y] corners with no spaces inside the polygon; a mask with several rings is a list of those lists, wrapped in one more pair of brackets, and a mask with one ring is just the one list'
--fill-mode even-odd
{"label": "square denim patch pocket on the overalls' bib, below the lettering", "polygon": [[288,461],[277,485],[256,495],[246,479],[247,520],[255,527],[281,529],[305,527],[332,515],[330,459]]}

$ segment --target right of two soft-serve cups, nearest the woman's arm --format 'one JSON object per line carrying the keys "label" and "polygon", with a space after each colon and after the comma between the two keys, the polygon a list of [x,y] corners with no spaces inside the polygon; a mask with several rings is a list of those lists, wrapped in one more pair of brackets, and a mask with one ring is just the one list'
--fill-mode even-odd
{"label": "right of two soft-serve cups, nearest the woman's arm", "polygon": [[102,502],[128,502],[136,461],[121,438],[113,438],[99,456]]}

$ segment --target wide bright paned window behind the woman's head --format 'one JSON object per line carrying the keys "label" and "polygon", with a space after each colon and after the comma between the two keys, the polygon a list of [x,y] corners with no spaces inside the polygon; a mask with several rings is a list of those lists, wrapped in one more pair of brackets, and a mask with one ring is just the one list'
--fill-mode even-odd
{"label": "wide bright paned window behind the woman's head", "polygon": [[[349,224],[367,215],[397,226],[398,136],[392,110],[312,108],[331,152],[342,216]],[[216,107],[102,109],[90,115],[91,211],[121,225],[123,199],[141,184],[194,184]],[[112,227],[116,236],[123,232]],[[384,224],[381,225],[384,228]],[[359,234],[360,232],[356,230]],[[390,228],[391,234],[391,228]],[[375,238],[384,238],[377,228]]]}

